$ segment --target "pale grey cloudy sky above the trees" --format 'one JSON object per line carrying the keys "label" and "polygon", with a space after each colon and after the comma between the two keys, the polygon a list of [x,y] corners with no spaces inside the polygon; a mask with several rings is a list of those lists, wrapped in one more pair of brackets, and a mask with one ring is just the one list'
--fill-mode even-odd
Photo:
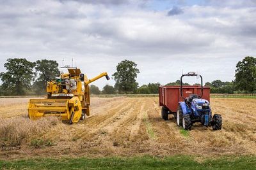
{"label": "pale grey cloudy sky above the trees", "polygon": [[[204,82],[232,81],[236,63],[256,56],[255,0],[0,2],[0,71],[13,57],[60,66],[74,58],[92,77],[113,74],[129,59],[138,64],[140,85],[175,81],[182,70],[199,72]],[[115,81],[94,84],[106,83]]]}

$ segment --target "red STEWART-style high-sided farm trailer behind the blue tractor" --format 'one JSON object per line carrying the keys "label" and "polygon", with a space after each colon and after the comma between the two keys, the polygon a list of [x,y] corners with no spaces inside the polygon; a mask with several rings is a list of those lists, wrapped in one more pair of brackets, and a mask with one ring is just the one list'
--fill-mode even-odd
{"label": "red STEWART-style high-sided farm trailer behind the blue tractor", "polygon": [[[200,96],[200,85],[188,85],[182,86],[183,96],[189,97],[191,94]],[[210,87],[203,87],[203,99],[210,101]],[[180,94],[180,86],[160,86],[159,87],[159,106],[164,106],[170,112],[176,113],[178,110],[178,104],[180,101],[184,101]]]}

